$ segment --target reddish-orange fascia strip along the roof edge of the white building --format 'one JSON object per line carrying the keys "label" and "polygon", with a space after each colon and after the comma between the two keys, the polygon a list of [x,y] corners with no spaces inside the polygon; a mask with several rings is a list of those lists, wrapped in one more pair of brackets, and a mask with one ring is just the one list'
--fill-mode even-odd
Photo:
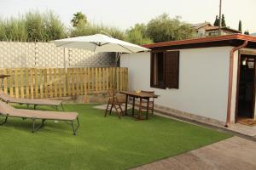
{"label": "reddish-orange fascia strip along the roof edge of the white building", "polygon": [[218,36],[218,37],[201,37],[201,38],[172,41],[172,42],[150,43],[150,44],[143,45],[143,47],[144,48],[160,48],[160,47],[167,47],[167,46],[178,46],[178,45],[185,45],[185,44],[205,43],[205,42],[221,42],[225,40],[247,40],[249,42],[256,42],[256,37],[242,35],[242,34],[230,34],[230,35]]}

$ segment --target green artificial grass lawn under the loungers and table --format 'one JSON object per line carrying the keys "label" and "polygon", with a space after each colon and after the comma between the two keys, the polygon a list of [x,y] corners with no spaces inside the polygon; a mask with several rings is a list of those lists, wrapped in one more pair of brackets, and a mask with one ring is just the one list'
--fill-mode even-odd
{"label": "green artificial grass lawn under the loungers and table", "polygon": [[0,169],[127,169],[230,137],[160,116],[148,121],[129,116],[119,120],[115,114],[104,117],[104,111],[93,106],[65,105],[66,111],[79,112],[77,136],[66,122],[48,121],[31,133],[31,120],[9,118],[0,126]]}

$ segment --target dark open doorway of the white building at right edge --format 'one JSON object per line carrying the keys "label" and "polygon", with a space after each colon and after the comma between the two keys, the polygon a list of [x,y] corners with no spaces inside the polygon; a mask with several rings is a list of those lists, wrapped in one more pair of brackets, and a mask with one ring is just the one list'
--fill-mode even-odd
{"label": "dark open doorway of the white building at right edge", "polygon": [[238,100],[236,116],[253,118],[255,105],[255,56],[241,54],[238,71]]}

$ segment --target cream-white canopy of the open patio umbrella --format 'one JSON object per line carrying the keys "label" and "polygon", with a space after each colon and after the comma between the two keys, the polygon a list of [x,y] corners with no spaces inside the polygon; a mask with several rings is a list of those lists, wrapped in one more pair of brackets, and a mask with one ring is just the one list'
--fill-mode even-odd
{"label": "cream-white canopy of the open patio umbrella", "polygon": [[130,54],[150,50],[148,48],[143,48],[133,43],[124,42],[102,34],[95,34],[92,36],[84,37],[70,37],[52,42],[54,42],[57,47],[82,48],[94,52],[115,52]]}

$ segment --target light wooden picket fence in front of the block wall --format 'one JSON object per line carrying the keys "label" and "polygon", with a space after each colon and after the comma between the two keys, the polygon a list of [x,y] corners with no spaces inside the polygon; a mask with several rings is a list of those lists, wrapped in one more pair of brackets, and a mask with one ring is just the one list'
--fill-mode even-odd
{"label": "light wooden picket fence in front of the block wall", "polygon": [[113,88],[116,69],[117,90],[126,90],[127,68],[49,68],[0,69],[11,77],[3,80],[2,90],[16,98],[44,99],[107,93]]}

